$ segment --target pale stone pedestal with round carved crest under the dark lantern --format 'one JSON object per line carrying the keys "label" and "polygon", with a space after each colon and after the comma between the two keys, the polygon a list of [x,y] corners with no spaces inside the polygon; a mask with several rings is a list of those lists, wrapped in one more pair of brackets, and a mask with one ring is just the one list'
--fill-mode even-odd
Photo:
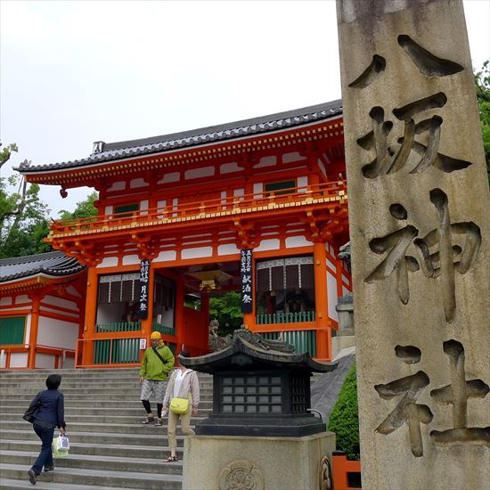
{"label": "pale stone pedestal with round carved crest under the dark lantern", "polygon": [[231,490],[239,481],[241,487],[257,490],[331,488],[333,451],[332,432],[306,437],[185,437],[183,489]]}

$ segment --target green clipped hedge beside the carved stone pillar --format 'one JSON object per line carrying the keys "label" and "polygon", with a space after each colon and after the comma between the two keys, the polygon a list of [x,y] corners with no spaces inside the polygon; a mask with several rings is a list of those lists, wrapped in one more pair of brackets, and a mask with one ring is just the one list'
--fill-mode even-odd
{"label": "green clipped hedge beside the carved stone pillar", "polygon": [[337,449],[346,453],[349,460],[360,459],[355,364],[340,388],[339,399],[331,411],[329,430],[337,436]]}

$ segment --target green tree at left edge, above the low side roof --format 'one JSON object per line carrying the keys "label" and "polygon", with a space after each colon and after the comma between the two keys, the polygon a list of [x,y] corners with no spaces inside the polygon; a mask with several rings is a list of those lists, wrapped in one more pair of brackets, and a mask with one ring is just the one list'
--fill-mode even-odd
{"label": "green tree at left edge, above the low side roof", "polygon": [[[0,167],[12,151],[18,151],[15,143],[0,151]],[[49,251],[43,240],[49,232],[48,214],[47,205],[39,199],[39,185],[28,185],[19,175],[0,177],[0,258]]]}

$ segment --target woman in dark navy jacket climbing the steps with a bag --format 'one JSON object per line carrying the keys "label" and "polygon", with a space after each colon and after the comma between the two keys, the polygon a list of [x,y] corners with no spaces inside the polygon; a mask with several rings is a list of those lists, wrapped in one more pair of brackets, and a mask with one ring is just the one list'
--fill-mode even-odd
{"label": "woman in dark navy jacket climbing the steps with a bag", "polygon": [[36,405],[39,407],[34,415],[32,427],[43,443],[41,453],[28,471],[29,482],[32,485],[36,485],[37,477],[41,474],[43,467],[45,467],[45,471],[54,470],[53,451],[51,449],[54,428],[60,429],[61,436],[64,436],[66,431],[64,399],[63,394],[58,391],[60,384],[61,376],[50,374],[46,379],[47,389],[40,391],[30,402],[29,408]]}

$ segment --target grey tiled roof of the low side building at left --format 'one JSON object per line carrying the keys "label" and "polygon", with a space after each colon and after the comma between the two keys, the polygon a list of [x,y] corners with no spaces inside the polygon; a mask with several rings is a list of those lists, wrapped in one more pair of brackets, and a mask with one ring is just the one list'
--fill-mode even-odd
{"label": "grey tiled roof of the low side building at left", "polygon": [[37,274],[53,277],[71,275],[84,269],[85,265],[79,265],[76,258],[67,257],[63,252],[3,258],[0,260],[0,283]]}

